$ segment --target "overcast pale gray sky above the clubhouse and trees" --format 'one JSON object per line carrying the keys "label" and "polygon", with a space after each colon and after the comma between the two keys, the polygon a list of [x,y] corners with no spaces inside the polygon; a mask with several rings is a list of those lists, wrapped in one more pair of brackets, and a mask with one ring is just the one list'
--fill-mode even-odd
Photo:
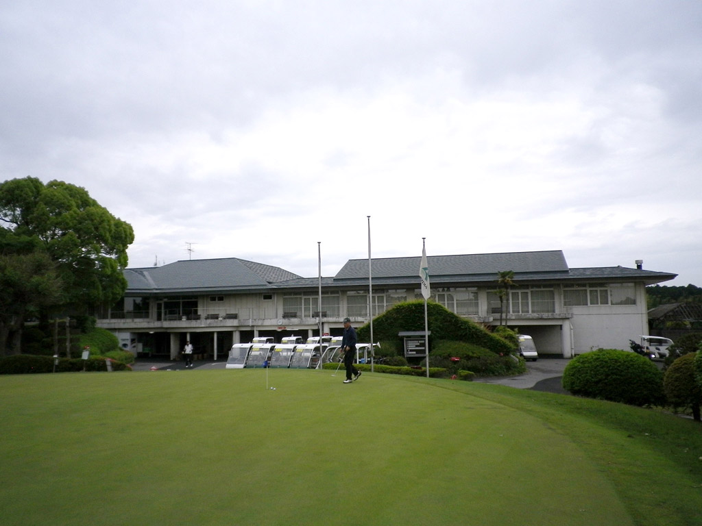
{"label": "overcast pale gray sky above the clubhouse and trees", "polygon": [[693,0],[0,0],[0,180],[84,187],[129,267],[316,277],[321,242],[333,276],[370,215],[373,257],[702,286],[701,28]]}

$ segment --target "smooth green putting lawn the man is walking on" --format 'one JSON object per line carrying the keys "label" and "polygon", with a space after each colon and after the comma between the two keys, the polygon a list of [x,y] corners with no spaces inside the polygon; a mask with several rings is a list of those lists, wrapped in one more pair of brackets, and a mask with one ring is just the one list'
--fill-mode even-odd
{"label": "smooth green putting lawn the man is walking on", "polygon": [[[0,377],[0,522],[647,523],[628,487],[632,461],[617,481],[597,445],[607,432],[571,413],[559,420],[553,404],[573,397],[366,372],[342,380],[261,369]],[[654,457],[671,476],[684,471]],[[700,495],[698,467],[686,476]]]}

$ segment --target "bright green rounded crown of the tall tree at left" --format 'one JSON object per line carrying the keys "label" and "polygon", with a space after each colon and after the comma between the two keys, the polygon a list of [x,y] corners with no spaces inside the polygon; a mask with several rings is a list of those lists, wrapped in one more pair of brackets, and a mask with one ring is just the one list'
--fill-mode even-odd
{"label": "bright green rounded crown of the tall tree at left", "polygon": [[134,241],[130,224],[114,217],[74,184],[36,177],[0,184],[0,253],[45,252],[62,282],[62,303],[74,309],[117,301],[121,270]]}

